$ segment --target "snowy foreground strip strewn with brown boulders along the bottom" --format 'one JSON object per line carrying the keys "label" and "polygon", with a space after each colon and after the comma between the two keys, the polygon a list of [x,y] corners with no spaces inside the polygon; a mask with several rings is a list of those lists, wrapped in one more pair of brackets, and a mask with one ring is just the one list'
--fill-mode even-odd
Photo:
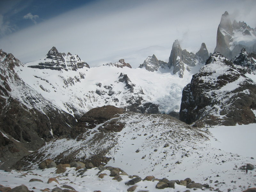
{"label": "snowy foreground strip strewn with brown boulders along the bottom", "polygon": [[[250,171],[254,169],[254,166],[247,164],[246,167],[242,168]],[[168,180],[149,175],[142,179],[138,175],[128,175],[124,170],[117,167],[102,165],[94,167],[92,163],[84,164],[82,162],[56,165],[51,159],[41,162],[38,169],[25,172],[5,170],[0,171],[0,176],[0,191],[2,192],[222,191],[216,187],[219,183],[218,180],[206,179],[204,184],[201,184],[190,178]],[[231,182],[236,183],[233,180]],[[250,188],[246,191],[255,191],[255,189]],[[228,189],[228,191],[231,190],[242,191],[242,188]]]}

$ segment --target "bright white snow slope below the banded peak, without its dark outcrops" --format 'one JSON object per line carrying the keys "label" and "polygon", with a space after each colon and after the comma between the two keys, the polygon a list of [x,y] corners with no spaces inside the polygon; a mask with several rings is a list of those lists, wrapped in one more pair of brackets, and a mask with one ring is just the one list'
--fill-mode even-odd
{"label": "bright white snow slope below the banded peak, without its dark outcrops", "polygon": [[[26,67],[29,65],[31,63],[20,67],[18,74],[21,79],[60,109],[73,115],[77,113],[78,116],[103,105],[125,108],[128,105],[127,97],[132,95],[127,95],[128,90],[124,84],[117,82],[121,73],[126,74],[138,90],[142,89],[145,93],[140,95],[143,102],[158,104],[161,113],[178,112],[182,89],[192,76],[192,72],[186,72],[187,75],[180,79],[169,72],[149,72],[146,69],[128,67],[100,66],[80,68],[77,71],[58,71]],[[101,87],[97,86],[98,83],[101,83]],[[114,92],[113,95],[110,95],[108,88]],[[97,90],[107,94],[99,95]]]}

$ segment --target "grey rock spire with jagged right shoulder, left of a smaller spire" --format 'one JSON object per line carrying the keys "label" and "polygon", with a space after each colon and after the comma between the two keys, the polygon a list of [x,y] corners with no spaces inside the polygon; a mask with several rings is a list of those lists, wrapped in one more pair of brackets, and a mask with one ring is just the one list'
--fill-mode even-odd
{"label": "grey rock spire with jagged right shoulder, left of a smaller spire", "polygon": [[184,70],[190,71],[191,67],[196,66],[196,63],[196,55],[192,52],[187,52],[186,49],[182,50],[179,41],[175,40],[168,62],[168,67],[173,67],[173,74],[178,73],[179,77],[182,78]]}

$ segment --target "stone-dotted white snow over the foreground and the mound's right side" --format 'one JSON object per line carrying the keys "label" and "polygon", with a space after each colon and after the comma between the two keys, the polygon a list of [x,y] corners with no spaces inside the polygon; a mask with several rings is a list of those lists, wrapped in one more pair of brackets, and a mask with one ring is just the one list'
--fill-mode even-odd
{"label": "stone-dotted white snow over the foreground and the mound's right side", "polygon": [[[157,115],[150,116],[156,116],[157,118]],[[250,187],[256,187],[256,169],[249,170],[247,174],[245,170],[239,169],[247,163],[256,165],[256,160],[251,158],[256,157],[256,142],[255,138],[253,138],[256,135],[255,124],[212,127],[209,128],[212,134],[208,134],[209,140],[200,141],[195,138],[195,140],[182,141],[180,138],[177,144],[173,140],[170,146],[164,147],[162,143],[165,143],[165,141],[161,142],[161,140],[164,140],[164,137],[168,137],[168,135],[162,135],[162,139],[159,138],[162,134],[161,129],[163,129],[160,122],[158,131],[154,131],[154,137],[151,140],[150,138],[145,140],[142,138],[146,138],[151,134],[149,130],[152,129],[150,126],[150,124],[153,124],[151,122],[152,119],[148,121],[148,124],[145,124],[149,130],[143,128],[138,130],[136,127],[141,126],[140,124],[136,126],[137,123],[134,119],[136,117],[133,117],[133,120],[131,118],[130,120],[129,118],[126,119],[129,124],[128,127],[118,132],[121,140],[111,150],[110,154],[115,154],[115,159],[110,160],[107,164],[108,166],[120,167],[128,175],[138,175],[142,179],[148,175],[153,175],[159,179],[167,178],[168,180],[184,180],[189,177],[195,182],[209,184],[210,187],[218,188],[223,192],[239,192]],[[180,132],[175,132],[174,130],[172,129],[174,134]],[[144,135],[145,133],[148,133],[148,135]],[[182,134],[180,132],[180,135]],[[176,136],[177,138],[180,137],[179,135]],[[69,140],[68,142],[60,140],[59,143],[56,142],[55,144],[58,148],[61,145],[61,150],[67,149],[65,145],[73,145],[75,148],[79,145],[79,142],[74,140]],[[182,145],[179,145],[180,142]],[[139,149],[139,152],[136,152],[137,149]],[[154,149],[157,149],[157,151],[154,151]],[[55,148],[53,147],[51,156],[54,156],[54,152]],[[180,163],[175,163],[177,161]],[[63,185],[69,185],[79,192],[91,192],[94,190],[124,192],[130,187],[124,184],[130,180],[128,176],[121,175],[123,180],[117,182],[112,180],[113,177],[108,176],[110,174],[108,170],[101,172],[107,174],[103,179],[96,175],[99,172],[98,168],[88,169],[83,177],[81,175],[77,177],[78,173],[74,167],[67,168],[65,173],[60,174],[56,174],[55,170],[56,168],[34,169],[32,170],[33,173],[27,173],[27,171],[0,171],[0,184],[11,188],[24,184],[29,190],[34,190],[35,192],[40,192],[40,189],[44,188],[50,188],[51,191],[53,188]],[[66,176],[66,173],[68,173],[68,176]],[[56,177],[60,184],[55,182],[47,184],[48,179],[51,177]],[[38,181],[28,182],[32,178],[41,179],[44,183]],[[188,189],[177,184],[175,184],[175,189],[156,189],[157,182],[140,181],[136,183],[138,187],[135,191],[183,192]],[[33,187],[36,187],[36,189],[32,189]],[[190,191],[193,191],[193,189],[190,189]],[[201,191],[201,189],[196,191]]]}

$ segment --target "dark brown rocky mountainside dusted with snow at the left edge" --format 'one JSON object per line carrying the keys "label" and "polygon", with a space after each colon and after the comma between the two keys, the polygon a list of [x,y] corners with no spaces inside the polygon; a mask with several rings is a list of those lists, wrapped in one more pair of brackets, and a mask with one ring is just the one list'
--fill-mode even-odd
{"label": "dark brown rocky mountainside dusted with snow at the left edge", "polygon": [[0,58],[0,130],[5,134],[0,134],[0,168],[5,169],[44,141],[69,137],[76,120],[20,79],[15,70],[23,64],[12,54],[0,50]]}

